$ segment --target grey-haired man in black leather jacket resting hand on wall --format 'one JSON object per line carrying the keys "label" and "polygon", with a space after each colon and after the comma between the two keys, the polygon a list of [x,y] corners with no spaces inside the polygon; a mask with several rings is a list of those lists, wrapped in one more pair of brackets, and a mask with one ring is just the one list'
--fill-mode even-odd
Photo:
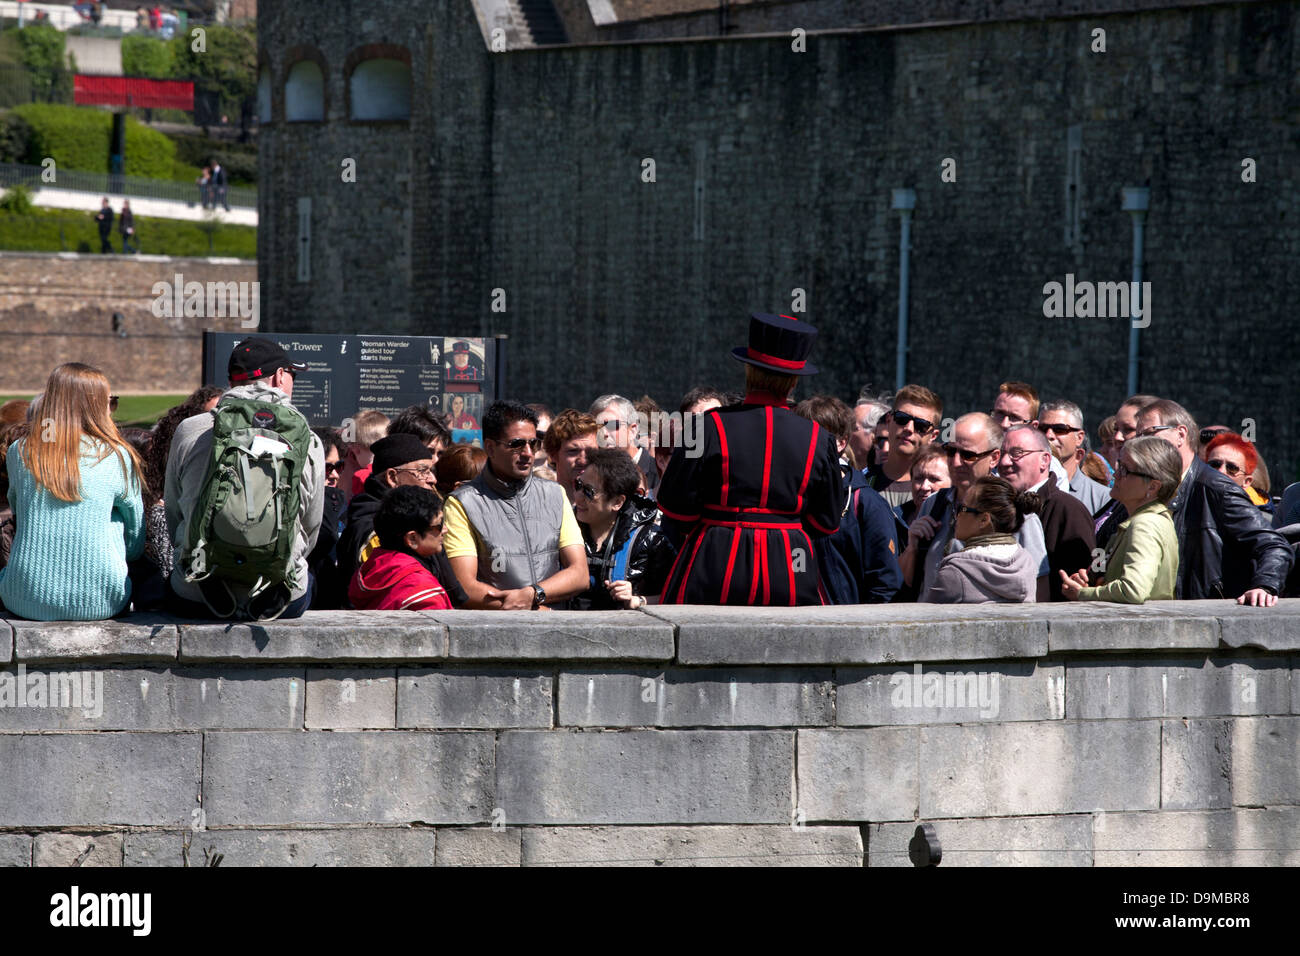
{"label": "grey-haired man in black leather jacket resting hand on wall", "polygon": [[[1183,480],[1169,502],[1178,531],[1175,593],[1188,600],[1235,597],[1242,605],[1271,607],[1295,554],[1245,492],[1196,457],[1197,433],[1196,421],[1176,402],[1157,399],[1138,414],[1138,434],[1158,434],[1183,459]],[[1101,546],[1128,516],[1122,507],[1115,510],[1098,535]]]}

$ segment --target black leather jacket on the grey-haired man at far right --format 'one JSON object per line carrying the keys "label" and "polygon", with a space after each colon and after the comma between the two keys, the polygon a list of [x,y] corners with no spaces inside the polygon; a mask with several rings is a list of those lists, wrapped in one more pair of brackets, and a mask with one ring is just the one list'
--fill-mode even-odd
{"label": "black leather jacket on the grey-haired man at far right", "polygon": [[[1240,488],[1196,459],[1169,502],[1178,531],[1178,588],[1186,600],[1240,597],[1251,588],[1280,594],[1295,553]],[[1128,516],[1117,506],[1101,528],[1105,546]]]}

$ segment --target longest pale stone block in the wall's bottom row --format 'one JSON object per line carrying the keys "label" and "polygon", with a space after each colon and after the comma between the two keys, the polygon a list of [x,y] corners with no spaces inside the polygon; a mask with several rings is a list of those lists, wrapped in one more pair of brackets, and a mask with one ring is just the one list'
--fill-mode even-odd
{"label": "longest pale stone block in the wall's bottom row", "polygon": [[528,827],[525,866],[862,866],[855,826]]}

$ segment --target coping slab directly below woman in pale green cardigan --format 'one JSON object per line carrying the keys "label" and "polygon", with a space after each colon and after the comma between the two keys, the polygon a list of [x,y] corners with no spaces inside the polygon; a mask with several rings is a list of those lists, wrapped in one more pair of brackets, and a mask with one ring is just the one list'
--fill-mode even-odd
{"label": "coping slab directly below woman in pale green cardigan", "polygon": [[1222,601],[1148,601],[1115,605],[1104,601],[1072,604],[1072,615],[1053,618],[1048,630],[1052,653],[1065,650],[1213,650],[1219,623],[1197,605]]}

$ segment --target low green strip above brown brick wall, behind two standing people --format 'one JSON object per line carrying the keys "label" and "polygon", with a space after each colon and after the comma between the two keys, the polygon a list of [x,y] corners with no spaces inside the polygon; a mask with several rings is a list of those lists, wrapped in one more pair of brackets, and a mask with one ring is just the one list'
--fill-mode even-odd
{"label": "low green strip above brown brick wall, behind two standing people", "polygon": [[[113,212],[121,202],[113,203]],[[60,237],[60,228],[62,235]],[[255,226],[222,225],[212,235],[212,251],[202,224],[174,219],[135,217],[135,235],[142,252],[174,256],[257,258]],[[113,220],[113,248],[122,250],[122,237]],[[18,252],[99,252],[99,226],[92,212],[66,209],[32,211],[29,215],[0,212],[0,250]]]}

